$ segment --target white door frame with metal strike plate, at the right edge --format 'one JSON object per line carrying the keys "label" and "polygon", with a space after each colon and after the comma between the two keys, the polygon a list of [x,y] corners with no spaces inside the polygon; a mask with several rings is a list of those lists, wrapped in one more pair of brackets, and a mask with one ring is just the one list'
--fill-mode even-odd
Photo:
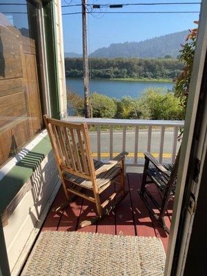
{"label": "white door frame with metal strike plate, at the right edge", "polygon": [[[199,17],[199,33],[197,37],[197,45],[195,49],[195,58],[193,63],[193,72],[190,80],[190,92],[188,95],[188,106],[186,110],[186,120],[184,126],[184,136],[182,139],[181,155],[179,161],[179,169],[177,175],[177,188],[175,191],[175,202],[173,206],[172,224],[170,228],[168,252],[166,257],[165,276],[171,275],[172,260],[175,253],[175,244],[178,234],[179,218],[181,215],[181,205],[184,197],[184,188],[186,185],[186,177],[188,166],[190,163],[190,150],[193,143],[193,133],[195,130],[195,121],[197,115],[197,107],[199,101],[199,93],[201,88],[201,80],[204,70],[204,62],[207,48],[207,0],[201,3],[201,13]],[[193,220],[193,219],[192,219]],[[186,221],[186,229],[190,226],[190,221]],[[190,223],[190,224],[189,224]],[[188,230],[184,233],[182,244],[186,245],[188,239]],[[186,246],[184,246],[185,248]],[[179,255],[179,267],[176,275],[182,275],[180,264],[184,264],[184,250]]]}

